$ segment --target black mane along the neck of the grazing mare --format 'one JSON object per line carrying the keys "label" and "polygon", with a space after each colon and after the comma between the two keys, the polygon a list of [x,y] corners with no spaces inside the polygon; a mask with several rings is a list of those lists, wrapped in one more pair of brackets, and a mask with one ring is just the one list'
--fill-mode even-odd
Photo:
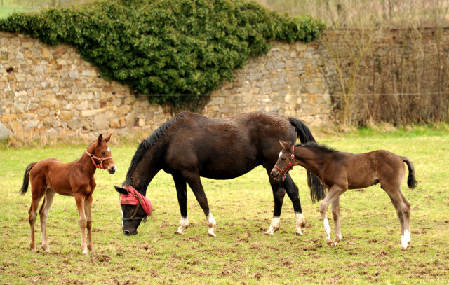
{"label": "black mane along the neck of the grazing mare", "polygon": [[123,182],[123,185],[130,185],[131,183],[131,173],[137,167],[140,160],[142,160],[145,153],[156,144],[156,142],[166,135],[166,132],[169,127],[176,123],[177,120],[184,118],[187,116],[186,112],[179,113],[177,116],[171,118],[166,123],[163,123],[160,127],[158,127],[152,134],[150,134],[147,139],[144,139],[138,146],[138,149],[135,151],[133,159],[131,160],[130,166],[128,168],[128,172],[126,173],[126,180]]}

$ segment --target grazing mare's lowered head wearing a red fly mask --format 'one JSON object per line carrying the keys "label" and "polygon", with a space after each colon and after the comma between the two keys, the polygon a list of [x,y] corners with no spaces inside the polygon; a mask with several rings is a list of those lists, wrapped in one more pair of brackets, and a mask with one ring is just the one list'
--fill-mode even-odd
{"label": "grazing mare's lowered head wearing a red fly mask", "polygon": [[123,234],[137,235],[140,223],[152,214],[152,202],[132,186],[114,188],[120,193]]}

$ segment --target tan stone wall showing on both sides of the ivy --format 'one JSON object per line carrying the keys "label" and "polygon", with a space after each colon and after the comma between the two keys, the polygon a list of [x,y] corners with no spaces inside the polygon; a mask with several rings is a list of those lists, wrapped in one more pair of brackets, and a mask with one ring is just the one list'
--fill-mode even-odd
{"label": "tan stone wall showing on both sides of the ivy", "polygon": [[[215,90],[203,115],[219,118],[265,110],[307,124],[333,123],[330,99],[313,44],[272,43]],[[172,115],[128,86],[106,81],[76,48],[47,46],[0,32],[0,132],[15,139],[99,133],[150,134]],[[0,135],[1,136],[1,135]]]}

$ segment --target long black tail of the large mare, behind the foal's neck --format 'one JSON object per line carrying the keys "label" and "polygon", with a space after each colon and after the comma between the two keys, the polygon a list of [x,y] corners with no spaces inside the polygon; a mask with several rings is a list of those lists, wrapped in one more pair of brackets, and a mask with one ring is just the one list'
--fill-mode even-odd
{"label": "long black tail of the large mare, behind the foal's neck", "polygon": [[[315,141],[314,136],[311,134],[309,127],[302,123],[301,120],[297,120],[295,118],[288,118],[290,120],[290,124],[293,125],[296,129],[297,137],[300,138],[302,144]],[[312,202],[318,202],[319,200],[323,200],[326,197],[326,188],[324,188],[320,179],[307,171],[307,184],[310,188],[310,197]]]}

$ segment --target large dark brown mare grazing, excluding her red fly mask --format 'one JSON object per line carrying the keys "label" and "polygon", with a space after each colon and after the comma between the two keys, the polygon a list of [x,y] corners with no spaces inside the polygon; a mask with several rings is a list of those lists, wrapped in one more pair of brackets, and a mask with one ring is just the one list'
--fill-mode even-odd
{"label": "large dark brown mare grazing, excluding her red fly mask", "polygon": [[[182,112],[156,129],[138,146],[130,162],[122,186],[114,186],[121,197],[133,195],[132,188],[146,196],[147,187],[163,169],[173,176],[180,206],[180,225],[176,234],[183,235],[189,226],[187,218],[187,183],[206,215],[208,235],[215,237],[216,222],[208,206],[200,177],[233,179],[262,165],[269,176],[281,150],[275,137],[291,144],[315,141],[309,128],[295,118],[274,113],[255,111],[229,118],[206,118],[198,113]],[[316,176],[307,173],[311,199],[321,200],[326,191]],[[265,232],[273,235],[279,221],[285,193],[292,200],[295,211],[295,233],[302,235],[305,220],[302,216],[298,188],[288,175],[285,181],[269,176],[274,197],[272,223]],[[138,207],[138,208],[136,208]],[[137,234],[137,228],[147,213],[139,205],[122,204],[122,230],[124,235]]]}

